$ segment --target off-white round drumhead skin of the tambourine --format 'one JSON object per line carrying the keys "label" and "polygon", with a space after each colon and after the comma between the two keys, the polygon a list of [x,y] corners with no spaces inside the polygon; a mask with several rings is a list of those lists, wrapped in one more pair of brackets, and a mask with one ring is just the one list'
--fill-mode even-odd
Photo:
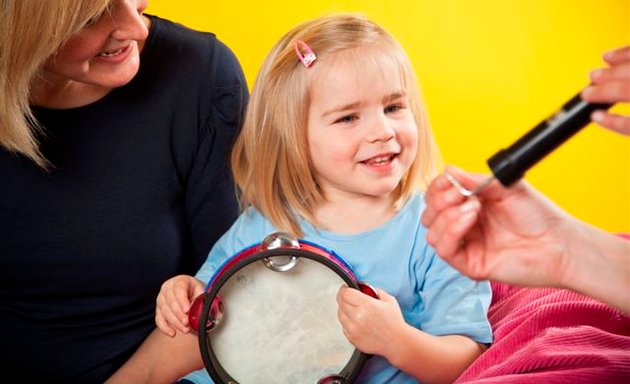
{"label": "off-white round drumhead skin of the tambourine", "polygon": [[208,333],[218,362],[242,384],[317,383],[340,372],[354,352],[337,320],[342,284],[308,259],[287,272],[245,266],[219,291],[224,317]]}

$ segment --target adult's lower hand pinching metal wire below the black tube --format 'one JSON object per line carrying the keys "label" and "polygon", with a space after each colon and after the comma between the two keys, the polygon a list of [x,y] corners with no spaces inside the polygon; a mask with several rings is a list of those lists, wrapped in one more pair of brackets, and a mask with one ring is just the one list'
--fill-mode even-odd
{"label": "adult's lower hand pinching metal wire below the black tube", "polygon": [[[472,189],[487,176],[455,167],[447,172]],[[492,182],[465,198],[446,176],[426,193],[422,224],[438,255],[477,280],[559,285],[566,270],[566,224],[573,219],[521,180],[511,188]]]}

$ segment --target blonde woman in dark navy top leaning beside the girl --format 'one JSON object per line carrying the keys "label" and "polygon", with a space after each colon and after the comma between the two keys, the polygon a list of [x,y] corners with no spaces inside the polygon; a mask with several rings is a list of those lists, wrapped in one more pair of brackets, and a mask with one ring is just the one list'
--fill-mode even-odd
{"label": "blonde woman in dark navy top leaning beside the girl", "polygon": [[102,383],[237,215],[228,153],[247,86],[209,33],[146,0],[0,7],[0,361]]}

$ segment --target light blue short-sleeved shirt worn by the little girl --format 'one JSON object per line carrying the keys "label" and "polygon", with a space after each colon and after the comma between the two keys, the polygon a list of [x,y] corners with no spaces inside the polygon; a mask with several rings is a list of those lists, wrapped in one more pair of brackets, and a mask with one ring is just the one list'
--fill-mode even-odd
{"label": "light blue short-sleeved shirt worn by the little girl", "polygon": [[[334,251],[360,281],[378,287],[398,300],[407,323],[432,335],[465,335],[480,343],[492,342],[487,319],[490,284],[475,282],[446,264],[426,243],[420,224],[425,204],[414,195],[403,209],[378,228],[346,235],[300,223],[304,240]],[[210,251],[197,278],[208,282],[231,256],[260,243],[277,229],[260,212],[250,208],[237,219]],[[204,370],[186,377],[210,383]],[[373,356],[356,383],[417,383],[386,359]]]}

